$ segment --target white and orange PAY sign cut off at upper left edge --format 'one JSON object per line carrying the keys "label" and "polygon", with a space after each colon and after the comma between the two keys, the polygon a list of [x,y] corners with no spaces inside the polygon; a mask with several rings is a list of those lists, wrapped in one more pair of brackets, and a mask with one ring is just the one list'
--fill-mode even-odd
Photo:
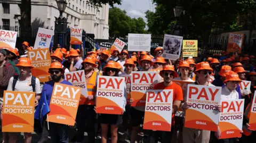
{"label": "white and orange PAY sign cut off at upper left edge", "polygon": [[0,30],[0,49],[15,49],[17,32]]}

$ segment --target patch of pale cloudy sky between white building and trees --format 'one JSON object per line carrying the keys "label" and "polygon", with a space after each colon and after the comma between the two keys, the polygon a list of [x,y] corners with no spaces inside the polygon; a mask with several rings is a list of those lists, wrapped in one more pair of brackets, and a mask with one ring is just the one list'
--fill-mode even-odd
{"label": "patch of pale cloudy sky between white building and trees", "polygon": [[121,10],[125,10],[131,18],[143,18],[145,22],[145,12],[147,10],[154,11],[152,0],[122,0],[122,5],[114,5]]}

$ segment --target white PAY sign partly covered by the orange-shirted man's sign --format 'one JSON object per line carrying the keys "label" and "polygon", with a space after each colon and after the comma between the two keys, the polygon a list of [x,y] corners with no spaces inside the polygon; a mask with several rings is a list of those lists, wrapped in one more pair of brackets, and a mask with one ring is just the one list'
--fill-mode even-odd
{"label": "white PAY sign partly covered by the orange-shirted man's sign", "polygon": [[153,90],[159,80],[157,72],[132,72],[131,98],[134,102],[131,106],[145,106],[147,90]]}

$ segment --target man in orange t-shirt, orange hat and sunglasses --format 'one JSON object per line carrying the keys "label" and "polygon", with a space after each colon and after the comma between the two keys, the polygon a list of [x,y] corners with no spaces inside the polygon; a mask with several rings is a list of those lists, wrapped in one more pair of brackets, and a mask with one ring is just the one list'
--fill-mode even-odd
{"label": "man in orange t-shirt, orange hat and sunglasses", "polygon": [[[165,65],[163,70],[160,71],[161,77],[164,78],[163,82],[157,83],[153,90],[173,89],[173,107],[172,107],[172,124],[171,131],[152,131],[149,130],[148,138],[149,142],[171,142],[173,136],[173,125],[175,122],[174,115],[178,111],[180,104],[183,100],[182,89],[177,83],[173,82],[173,78],[177,77],[177,73],[174,71],[173,65]],[[160,138],[161,137],[161,138]]]}

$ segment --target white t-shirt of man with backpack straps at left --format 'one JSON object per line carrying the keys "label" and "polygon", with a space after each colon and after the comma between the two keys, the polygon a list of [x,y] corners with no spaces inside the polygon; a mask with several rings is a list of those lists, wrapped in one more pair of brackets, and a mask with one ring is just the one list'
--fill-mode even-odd
{"label": "white t-shirt of man with backpack straps at left", "polygon": [[[7,87],[7,90],[12,91],[12,82],[13,82],[13,77],[11,77],[11,79],[9,80],[9,84]],[[27,91],[27,92],[33,92],[33,87],[29,86],[31,85],[31,76],[29,79],[27,80],[23,80],[21,81],[18,78],[18,81],[14,87],[14,91]],[[42,90],[40,87],[40,81],[38,78],[36,78],[36,88],[35,88],[35,92],[36,94],[41,94]]]}

